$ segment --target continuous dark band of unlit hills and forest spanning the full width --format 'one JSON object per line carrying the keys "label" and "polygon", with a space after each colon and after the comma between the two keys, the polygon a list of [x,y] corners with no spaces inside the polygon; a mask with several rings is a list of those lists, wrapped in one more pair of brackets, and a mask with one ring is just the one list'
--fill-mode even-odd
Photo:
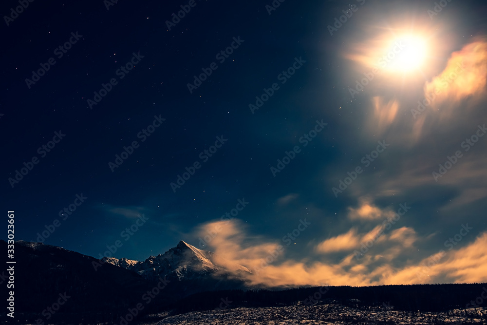
{"label": "continuous dark band of unlit hills and forest spanning the full width", "polygon": [[[0,249],[6,250],[6,245],[0,241]],[[16,242],[15,254],[15,288],[8,289],[15,291],[15,321],[32,324],[37,324],[38,319],[45,324],[119,324],[121,317],[137,305],[143,308],[134,321],[149,313],[323,303],[437,312],[464,309],[483,292],[487,293],[487,284],[242,289],[240,280],[227,278],[225,273],[215,278],[215,274],[205,277],[194,272],[187,279],[178,278],[180,272],[169,274],[157,289],[161,277],[146,279],[135,271],[100,264],[94,257],[55,246]],[[98,265],[97,270],[94,264]],[[7,273],[0,271],[5,286]],[[148,291],[153,294],[151,299],[146,299]],[[45,310],[58,301],[60,294],[69,298],[55,313],[46,314]],[[482,299],[480,306],[486,306],[486,302]],[[11,321],[5,311],[0,317]]]}

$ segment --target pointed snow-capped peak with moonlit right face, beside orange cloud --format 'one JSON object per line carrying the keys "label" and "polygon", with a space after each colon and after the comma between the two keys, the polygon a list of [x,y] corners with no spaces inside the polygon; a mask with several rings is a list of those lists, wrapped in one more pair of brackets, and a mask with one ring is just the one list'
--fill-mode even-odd
{"label": "pointed snow-capped peak with moonlit right face, beside orange cloud", "polygon": [[191,292],[244,288],[247,287],[245,277],[251,274],[242,265],[225,260],[213,252],[197,249],[184,241],[164,254],[150,256],[145,261],[107,258],[106,262],[137,272],[150,281],[167,277],[170,281],[190,283]]}

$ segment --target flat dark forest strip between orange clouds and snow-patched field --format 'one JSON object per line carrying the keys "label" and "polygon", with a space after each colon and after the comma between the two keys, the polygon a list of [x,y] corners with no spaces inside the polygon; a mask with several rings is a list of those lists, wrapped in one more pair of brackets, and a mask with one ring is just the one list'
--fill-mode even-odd
{"label": "flat dark forest strip between orange clouds and snow-patched field", "polygon": [[[480,305],[471,304],[487,284],[434,284],[390,285],[373,287],[300,287],[275,290],[225,290],[201,292],[172,304],[173,314],[193,310],[222,308],[223,301],[232,303],[226,307],[268,307],[283,305],[313,305],[339,303],[345,306],[367,309],[375,306],[404,311],[448,311],[476,306],[487,306],[487,299]],[[485,295],[485,294],[484,294]],[[223,299],[223,300],[222,300]]]}

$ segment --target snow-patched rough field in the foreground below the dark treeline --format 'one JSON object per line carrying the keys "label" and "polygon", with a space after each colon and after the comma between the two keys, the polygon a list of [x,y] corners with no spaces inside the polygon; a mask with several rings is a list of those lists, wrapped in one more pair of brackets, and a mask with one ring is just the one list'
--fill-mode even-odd
{"label": "snow-patched rough field in the foreground below the dark treeline", "polygon": [[[154,315],[155,316],[155,315]],[[159,315],[161,317],[162,315]],[[160,320],[160,318],[159,318]],[[195,311],[167,316],[146,325],[317,325],[317,324],[487,324],[487,308],[450,312],[405,312],[387,308],[370,310],[341,305],[283,306],[265,308],[229,308]]]}

